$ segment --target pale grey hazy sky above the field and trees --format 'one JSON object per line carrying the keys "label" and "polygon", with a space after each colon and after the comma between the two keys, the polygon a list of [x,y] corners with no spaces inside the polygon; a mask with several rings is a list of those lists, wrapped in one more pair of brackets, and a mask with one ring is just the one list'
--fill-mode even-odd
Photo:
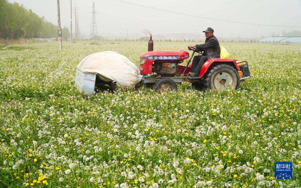
{"label": "pale grey hazy sky above the field and trees", "polygon": [[[9,2],[14,1],[57,24],[56,0],[9,0]],[[267,36],[272,32],[280,34],[283,30],[301,30],[301,0],[124,1],[132,4],[118,0],[72,0],[72,7],[78,8],[81,33],[87,35],[90,33],[93,2],[95,2],[97,12],[96,22],[99,35],[126,33],[126,29],[129,33],[137,33],[143,29],[148,29],[153,34],[195,33],[212,27],[217,37],[221,35],[223,37],[232,35],[233,37],[257,37],[258,33],[260,36]],[[61,26],[70,27],[70,0],[60,0],[60,7]],[[72,19],[74,32],[74,13],[72,13]]]}

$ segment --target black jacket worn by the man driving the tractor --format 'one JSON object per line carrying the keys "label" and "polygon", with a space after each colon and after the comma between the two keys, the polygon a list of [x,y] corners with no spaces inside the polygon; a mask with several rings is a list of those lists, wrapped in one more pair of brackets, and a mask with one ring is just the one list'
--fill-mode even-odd
{"label": "black jacket worn by the man driving the tractor", "polygon": [[221,48],[219,47],[219,41],[213,35],[209,39],[206,38],[204,44],[197,44],[196,48],[200,51],[204,51],[203,55],[207,55],[209,58],[221,58]]}

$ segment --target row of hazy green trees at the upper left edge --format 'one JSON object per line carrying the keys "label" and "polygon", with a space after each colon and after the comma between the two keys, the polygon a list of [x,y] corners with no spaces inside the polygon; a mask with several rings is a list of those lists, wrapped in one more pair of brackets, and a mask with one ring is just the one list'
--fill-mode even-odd
{"label": "row of hazy green trees at the upper left edge", "polygon": [[[0,0],[0,37],[4,39],[57,37],[57,25],[39,17],[18,3]],[[62,38],[69,38],[69,28],[62,28]]]}

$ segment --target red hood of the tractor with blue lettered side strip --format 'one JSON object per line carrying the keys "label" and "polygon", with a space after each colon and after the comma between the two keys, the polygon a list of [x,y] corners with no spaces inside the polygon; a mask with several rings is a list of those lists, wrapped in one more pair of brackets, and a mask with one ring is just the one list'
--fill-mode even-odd
{"label": "red hood of the tractor with blue lettered side strip", "polygon": [[159,59],[175,59],[183,60],[189,58],[189,53],[185,50],[178,51],[150,51],[141,54],[141,59],[148,58],[149,60],[159,60]]}

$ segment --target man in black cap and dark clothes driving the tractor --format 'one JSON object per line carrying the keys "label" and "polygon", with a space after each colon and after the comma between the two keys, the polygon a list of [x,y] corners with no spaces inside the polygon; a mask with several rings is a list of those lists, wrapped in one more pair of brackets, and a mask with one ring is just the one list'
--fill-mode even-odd
{"label": "man in black cap and dark clothes driving the tractor", "polygon": [[213,35],[213,28],[209,27],[206,29],[206,31],[203,31],[206,36],[206,40],[204,44],[194,44],[194,45],[189,45],[188,49],[191,50],[191,48],[196,48],[199,51],[202,51],[202,55],[197,55],[194,56],[192,60],[192,65],[190,74],[193,77],[199,77],[201,67],[202,65],[210,58],[221,58],[220,56],[220,46],[219,46],[219,41],[217,38]]}

